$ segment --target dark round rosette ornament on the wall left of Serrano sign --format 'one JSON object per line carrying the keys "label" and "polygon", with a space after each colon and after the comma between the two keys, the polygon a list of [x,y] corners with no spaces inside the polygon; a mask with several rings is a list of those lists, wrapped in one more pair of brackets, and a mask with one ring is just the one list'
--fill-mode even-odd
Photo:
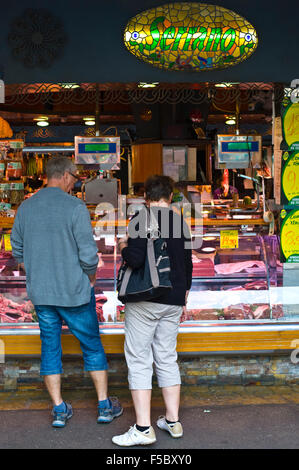
{"label": "dark round rosette ornament on the wall left of Serrano sign", "polygon": [[27,9],[8,34],[14,58],[25,67],[50,67],[62,55],[67,36],[59,18],[45,9]]}

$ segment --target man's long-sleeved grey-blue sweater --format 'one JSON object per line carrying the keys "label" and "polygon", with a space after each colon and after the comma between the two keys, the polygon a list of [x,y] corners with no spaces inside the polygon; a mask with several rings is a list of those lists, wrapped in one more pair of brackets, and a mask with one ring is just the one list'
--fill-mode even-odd
{"label": "man's long-sleeved grey-blue sweater", "polygon": [[76,307],[90,301],[89,274],[97,269],[97,246],[85,204],[57,187],[24,201],[11,233],[13,256],[24,263],[35,305]]}

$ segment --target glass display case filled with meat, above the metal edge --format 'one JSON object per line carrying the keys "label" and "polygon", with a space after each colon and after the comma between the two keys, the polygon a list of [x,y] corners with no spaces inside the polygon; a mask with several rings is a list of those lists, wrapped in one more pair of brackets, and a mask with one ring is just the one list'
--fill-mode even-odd
{"label": "glass display case filled with meat, above the metal edge", "polygon": [[[238,247],[221,247],[221,232],[238,232]],[[26,276],[12,257],[1,232],[0,323],[34,323],[34,306],[26,293]],[[124,305],[118,300],[116,277],[121,263],[116,235],[96,235],[99,264],[95,285],[99,323],[118,325],[124,320]],[[200,245],[200,246],[199,246]],[[255,323],[296,320],[287,305],[299,303],[283,295],[279,239],[268,235],[267,225],[204,225],[200,243],[192,250],[193,282],[186,306],[188,323]],[[292,297],[292,296],[291,296]],[[298,306],[297,306],[298,307]],[[285,310],[287,314],[285,314]],[[295,309],[296,310],[296,309]],[[292,309],[293,312],[295,312]]]}

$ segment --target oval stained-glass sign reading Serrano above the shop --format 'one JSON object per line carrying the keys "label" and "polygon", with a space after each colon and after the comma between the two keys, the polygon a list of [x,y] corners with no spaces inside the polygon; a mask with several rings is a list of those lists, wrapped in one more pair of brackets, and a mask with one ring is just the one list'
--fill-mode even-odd
{"label": "oval stained-glass sign reading Serrano above the shop", "polygon": [[216,5],[178,2],[130,19],[124,43],[134,56],[165,70],[223,69],[250,57],[255,28],[239,14]]}

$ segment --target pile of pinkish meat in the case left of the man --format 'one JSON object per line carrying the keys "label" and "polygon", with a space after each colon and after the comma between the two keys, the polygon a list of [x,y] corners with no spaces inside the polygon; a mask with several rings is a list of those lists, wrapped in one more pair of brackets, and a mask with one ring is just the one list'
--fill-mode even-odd
{"label": "pile of pinkish meat in the case left of the man", "polygon": [[18,303],[0,294],[0,323],[30,323],[35,321],[36,314],[30,300]]}

